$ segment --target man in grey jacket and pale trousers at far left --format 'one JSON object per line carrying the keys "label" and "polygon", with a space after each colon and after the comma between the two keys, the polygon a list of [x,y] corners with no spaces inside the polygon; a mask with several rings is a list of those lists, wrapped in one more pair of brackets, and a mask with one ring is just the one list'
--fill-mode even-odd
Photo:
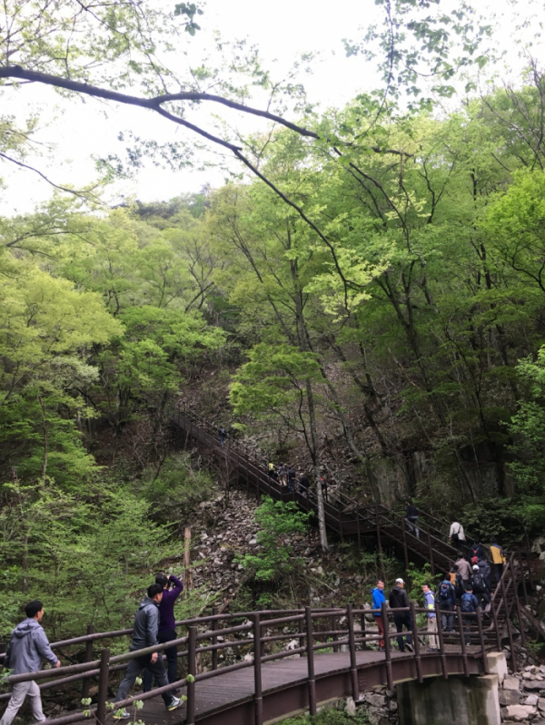
{"label": "man in grey jacket and pale trousers at far left", "polygon": [[[11,633],[7,652],[5,652],[4,668],[12,670],[12,674],[35,672],[41,669],[42,660],[47,660],[53,667],[60,667],[61,662],[51,651],[47,636],[40,622],[44,616],[44,604],[38,599],[25,606],[26,619],[17,624]],[[38,722],[45,720],[42,710],[42,697],[40,688],[34,680],[15,682],[12,695],[7,703],[0,725],[11,725],[15,715],[21,709],[28,695],[32,707],[32,714]]]}

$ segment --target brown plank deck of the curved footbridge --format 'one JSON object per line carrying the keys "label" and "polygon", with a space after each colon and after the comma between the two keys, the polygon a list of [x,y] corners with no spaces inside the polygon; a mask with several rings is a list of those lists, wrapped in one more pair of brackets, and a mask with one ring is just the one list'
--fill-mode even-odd
{"label": "brown plank deck of the curved footbridge", "polygon": [[[451,674],[463,674],[460,648],[447,648],[447,661]],[[360,690],[386,684],[383,652],[356,653]],[[391,652],[394,680],[413,679],[416,676],[414,655]],[[467,661],[472,674],[482,673],[481,652],[478,647],[468,648]],[[350,654],[320,654],[314,658],[318,704],[348,697],[351,694]],[[432,652],[421,655],[423,676],[441,675],[441,657]],[[397,673],[397,676],[396,676]],[[308,665],[305,657],[269,662],[262,666],[264,722],[308,710]],[[210,680],[198,681],[195,688],[195,716],[197,722],[240,723],[252,725],[253,720],[253,668],[226,672]],[[185,707],[167,712],[160,698],[144,701],[137,718],[146,725],[178,725],[185,721]]]}

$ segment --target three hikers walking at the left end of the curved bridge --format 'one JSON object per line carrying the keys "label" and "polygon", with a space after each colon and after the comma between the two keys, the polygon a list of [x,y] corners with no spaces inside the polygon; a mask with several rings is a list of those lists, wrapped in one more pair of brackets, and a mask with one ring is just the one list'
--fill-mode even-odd
{"label": "three hikers walking at the left end of the curved bridge", "polygon": [[[176,639],[174,621],[174,603],[183,590],[183,583],[172,574],[167,576],[159,573],[155,582],[148,587],[147,596],[138,607],[134,615],[133,639],[129,647],[130,652],[137,652],[155,644],[172,642]],[[11,633],[10,641],[5,652],[4,667],[12,670],[12,674],[35,672],[42,666],[42,660],[48,661],[53,667],[60,667],[61,662],[54,655],[49,646],[47,636],[40,622],[44,616],[44,604],[38,600],[30,602],[25,607],[26,619],[15,627]],[[164,666],[163,654],[153,652],[136,656],[129,660],[124,679],[121,681],[114,702],[127,699],[136,678],[144,671],[144,692],[152,689],[153,681],[158,687],[165,687],[177,681],[178,653],[177,647],[166,648],[164,657],[167,667]],[[178,690],[163,692],[163,701],[167,710],[176,710],[181,699],[176,697]],[[0,725],[11,725],[15,715],[20,710],[25,697],[30,698],[35,720],[45,720],[42,710],[40,688],[34,680],[15,682],[13,691],[5,709]],[[126,720],[130,717],[127,710],[116,710],[114,720]]]}

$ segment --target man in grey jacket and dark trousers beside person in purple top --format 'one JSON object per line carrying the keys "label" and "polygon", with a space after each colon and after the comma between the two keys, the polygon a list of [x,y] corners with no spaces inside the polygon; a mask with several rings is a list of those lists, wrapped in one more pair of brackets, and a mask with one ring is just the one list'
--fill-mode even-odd
{"label": "man in grey jacket and dark trousers beside person in purple top", "polygon": [[[137,652],[138,650],[144,650],[146,647],[153,647],[154,644],[158,644],[159,604],[162,599],[163,586],[161,584],[152,584],[148,587],[147,596],[144,597],[134,615],[133,640],[129,647],[130,652]],[[165,687],[169,684],[166,671],[164,670],[163,655],[161,652],[144,654],[141,657],[135,657],[134,660],[129,660],[124,679],[119,685],[114,702],[127,699],[129,690],[143,670],[148,670],[152,673],[159,687]],[[176,710],[181,702],[179,698],[173,696],[172,692],[164,692],[162,698],[166,709],[169,711]],[[113,717],[114,720],[125,720],[131,716],[124,709],[114,712]]]}

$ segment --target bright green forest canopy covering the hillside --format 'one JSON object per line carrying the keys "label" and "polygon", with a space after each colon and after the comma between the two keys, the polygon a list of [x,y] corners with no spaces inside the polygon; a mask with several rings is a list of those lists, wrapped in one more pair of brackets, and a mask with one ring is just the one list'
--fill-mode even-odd
{"label": "bright green forest canopy covering the hillside", "polygon": [[[192,27],[193,10],[180,12]],[[53,53],[39,51],[29,50],[32,73]],[[82,82],[96,67],[84,51]],[[108,60],[125,51],[108,46]],[[0,75],[24,79],[9,57]],[[100,66],[104,83],[112,67]],[[517,89],[448,114],[429,99],[407,109],[362,94],[308,113],[308,133],[277,127],[266,142],[249,139],[260,149],[252,180],[107,212],[58,193],[33,214],[0,218],[8,590],[21,580],[23,593],[56,601],[74,583],[77,605],[57,602],[59,632],[104,617],[104,602],[107,621],[123,622],[130,606],[114,606],[115,586],[104,593],[96,567],[114,578],[125,561],[129,591],[172,554],[168,523],[140,486],[167,447],[148,401],[217,369],[231,376],[233,421],[269,450],[271,431],[298,442],[316,476],[326,430],[352,460],[358,495],[378,497],[377,460],[411,480],[407,460],[423,452],[435,474],[415,491],[421,502],[446,514],[462,497],[479,512],[486,487],[466,464],[478,467],[486,450],[498,481],[488,494],[510,496],[520,525],[540,530],[544,102],[534,63]],[[24,154],[32,129],[9,119],[2,129],[5,156]],[[113,474],[94,456],[101,436],[134,424],[130,475]],[[140,554],[127,563],[129,547]],[[0,600],[7,628],[15,604]]]}

